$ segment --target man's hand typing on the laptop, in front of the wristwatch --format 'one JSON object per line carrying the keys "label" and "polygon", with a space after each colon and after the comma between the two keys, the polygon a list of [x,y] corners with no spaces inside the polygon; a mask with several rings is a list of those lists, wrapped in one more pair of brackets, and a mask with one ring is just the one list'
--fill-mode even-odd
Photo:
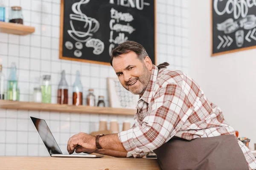
{"label": "man's hand typing on the laptop, in front of the wristwatch", "polygon": [[[80,148],[79,148],[79,145],[81,146]],[[67,151],[68,151],[68,153],[69,154],[74,153],[76,147],[78,147],[77,151],[79,153],[81,153],[81,152],[88,152],[88,153],[95,152],[96,149],[97,149],[96,145],[95,145],[95,136],[91,136],[91,135],[88,135],[88,134],[82,133],[82,132],[72,136],[67,142]],[[82,151],[82,150],[84,150],[84,151]]]}

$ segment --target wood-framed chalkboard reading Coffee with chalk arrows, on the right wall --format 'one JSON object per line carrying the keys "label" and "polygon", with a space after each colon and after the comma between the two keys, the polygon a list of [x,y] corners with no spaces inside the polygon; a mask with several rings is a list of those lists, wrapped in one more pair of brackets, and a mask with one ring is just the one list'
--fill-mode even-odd
{"label": "wood-framed chalkboard reading Coffee with chalk arrows, on the right wall", "polygon": [[256,48],[255,15],[255,0],[212,0],[212,56]]}

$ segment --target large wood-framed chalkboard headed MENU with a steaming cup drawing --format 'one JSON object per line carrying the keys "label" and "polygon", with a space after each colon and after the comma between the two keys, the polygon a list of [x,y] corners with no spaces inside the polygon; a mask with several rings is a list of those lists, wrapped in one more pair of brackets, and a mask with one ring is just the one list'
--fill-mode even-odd
{"label": "large wood-framed chalkboard headed MENU with a steaming cup drawing", "polygon": [[155,55],[155,0],[61,0],[60,59],[110,65],[127,40]]}

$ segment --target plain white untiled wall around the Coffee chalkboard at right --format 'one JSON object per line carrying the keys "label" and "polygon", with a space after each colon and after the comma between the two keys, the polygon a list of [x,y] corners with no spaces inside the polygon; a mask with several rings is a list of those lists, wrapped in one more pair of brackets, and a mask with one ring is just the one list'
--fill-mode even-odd
{"label": "plain white untiled wall around the Coffee chalkboard at right", "polygon": [[256,49],[211,57],[210,0],[189,5],[189,75],[239,136],[256,143]]}

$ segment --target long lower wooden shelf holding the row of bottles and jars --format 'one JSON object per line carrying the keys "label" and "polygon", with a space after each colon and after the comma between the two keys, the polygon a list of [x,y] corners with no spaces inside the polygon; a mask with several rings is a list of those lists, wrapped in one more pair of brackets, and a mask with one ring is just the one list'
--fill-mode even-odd
{"label": "long lower wooden shelf holding the row of bottles and jars", "polygon": [[95,114],[115,114],[115,115],[134,115],[135,109],[123,108],[99,108],[90,106],[73,106],[73,105],[59,105],[48,103],[35,102],[17,102],[9,100],[0,100],[0,108],[3,109],[18,109],[29,111],[53,111],[66,113],[95,113]]}

